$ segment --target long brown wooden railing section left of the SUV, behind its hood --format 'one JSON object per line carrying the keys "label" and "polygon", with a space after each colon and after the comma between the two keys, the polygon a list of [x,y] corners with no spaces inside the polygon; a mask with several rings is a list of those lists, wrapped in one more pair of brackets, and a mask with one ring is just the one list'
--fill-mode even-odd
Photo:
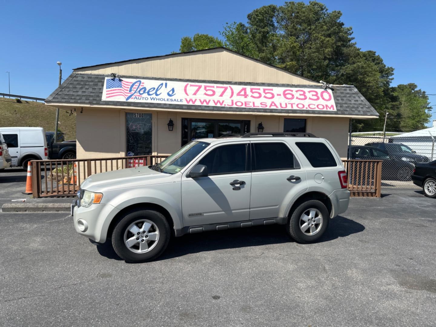
{"label": "long brown wooden railing section left of the SUV, behind its hood", "polygon": [[93,174],[158,164],[168,156],[112,157],[101,159],[32,160],[34,198],[75,196],[80,184]]}

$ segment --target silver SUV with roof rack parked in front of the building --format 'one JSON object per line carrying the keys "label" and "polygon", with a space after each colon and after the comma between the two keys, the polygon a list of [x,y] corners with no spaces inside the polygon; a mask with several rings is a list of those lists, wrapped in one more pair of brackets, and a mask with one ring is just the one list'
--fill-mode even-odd
{"label": "silver SUV with roof rack parked in front of the building", "polygon": [[127,262],[156,259],[170,236],[281,224],[314,242],[347,210],[341,158],[310,133],[198,139],[160,164],[88,177],[72,204],[76,231],[112,240]]}

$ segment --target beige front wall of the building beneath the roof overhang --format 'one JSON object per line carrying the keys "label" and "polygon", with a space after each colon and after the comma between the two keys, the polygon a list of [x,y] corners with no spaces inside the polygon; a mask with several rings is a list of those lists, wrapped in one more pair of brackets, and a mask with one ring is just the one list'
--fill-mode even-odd
{"label": "beige front wall of the building beneath the roof overhang", "polygon": [[[283,116],[256,116],[232,114],[206,114],[184,112],[162,112],[146,110],[119,110],[84,108],[77,113],[77,157],[107,158],[123,157],[126,155],[126,112],[152,113],[152,152],[155,155],[169,155],[181,146],[182,118],[208,119],[240,119],[250,120],[250,132],[257,132],[260,122],[265,127],[264,132],[283,131]],[[341,157],[347,157],[347,118],[305,117],[307,132],[329,140]],[[174,121],[173,131],[167,127],[168,121]]]}

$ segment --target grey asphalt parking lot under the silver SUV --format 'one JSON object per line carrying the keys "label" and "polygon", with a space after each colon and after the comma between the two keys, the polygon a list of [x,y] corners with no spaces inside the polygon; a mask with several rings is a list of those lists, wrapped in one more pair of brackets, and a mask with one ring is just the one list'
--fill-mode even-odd
{"label": "grey asphalt parking lot under the silver SUV", "polygon": [[0,325],[432,326],[436,200],[387,192],[352,199],[316,244],[282,226],[207,232],[144,264],[66,213],[0,213]]}

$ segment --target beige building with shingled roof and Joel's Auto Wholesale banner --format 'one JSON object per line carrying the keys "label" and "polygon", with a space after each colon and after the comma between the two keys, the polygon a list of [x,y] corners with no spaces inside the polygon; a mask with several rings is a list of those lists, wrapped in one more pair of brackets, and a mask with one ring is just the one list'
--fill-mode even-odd
{"label": "beige building with shingled roof and Joel's Auto Wholesale banner", "polygon": [[226,48],[75,68],[45,103],[75,109],[78,158],[167,155],[196,138],[262,127],[325,137],[346,157],[349,120],[378,117],[354,86]]}

